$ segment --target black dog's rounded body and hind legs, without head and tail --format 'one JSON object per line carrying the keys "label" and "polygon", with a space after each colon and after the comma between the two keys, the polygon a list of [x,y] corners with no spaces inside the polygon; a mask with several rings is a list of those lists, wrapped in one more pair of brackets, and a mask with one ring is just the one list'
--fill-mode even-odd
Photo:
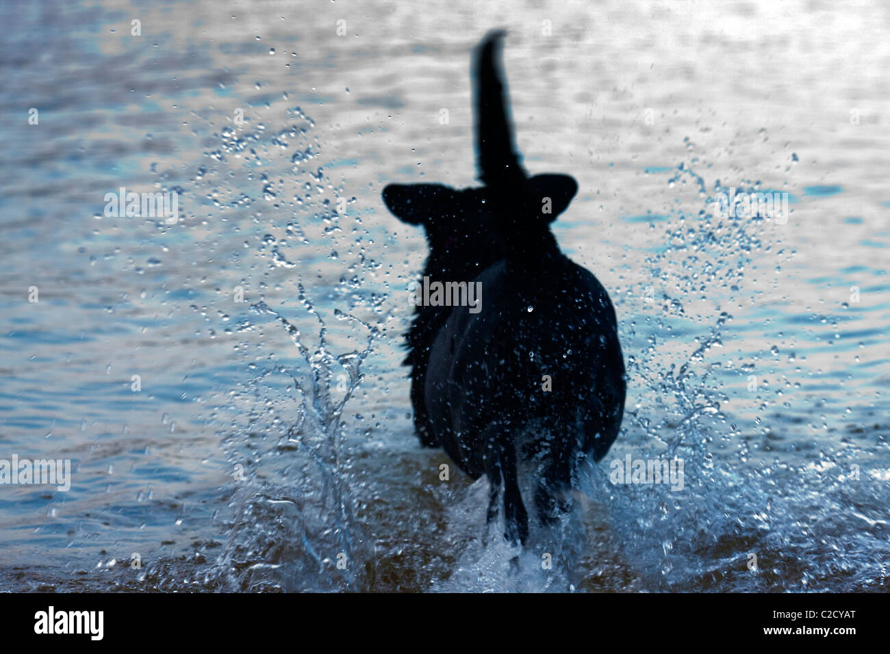
{"label": "black dog's rounded body and hind legs, without head and tail", "polygon": [[[600,459],[618,436],[625,370],[603,286],[559,252],[549,230],[517,233],[524,242],[506,235],[506,260],[476,280],[481,311],[452,313],[436,337],[425,397],[449,456],[473,476],[503,480],[511,537],[524,541],[517,457],[536,462],[538,517],[553,519],[578,457]],[[536,438],[517,451],[529,429]]]}

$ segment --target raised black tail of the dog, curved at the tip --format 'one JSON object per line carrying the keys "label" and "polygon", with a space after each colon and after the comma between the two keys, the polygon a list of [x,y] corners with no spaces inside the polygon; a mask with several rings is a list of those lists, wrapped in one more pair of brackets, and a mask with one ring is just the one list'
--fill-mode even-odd
{"label": "raised black tail of the dog, curved at the tip", "polygon": [[503,29],[493,29],[473,50],[476,166],[481,182],[507,188],[525,182],[514,143],[510,98],[506,92],[501,45]]}

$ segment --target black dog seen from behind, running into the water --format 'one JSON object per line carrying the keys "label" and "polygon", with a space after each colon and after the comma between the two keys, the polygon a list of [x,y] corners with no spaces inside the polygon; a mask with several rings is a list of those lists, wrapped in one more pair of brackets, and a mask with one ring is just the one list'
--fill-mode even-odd
{"label": "black dog seen from behind, running into the water", "polygon": [[569,510],[578,464],[601,459],[618,436],[625,371],[609,295],[550,231],[577,182],[522,169],[498,57],[504,35],[490,32],[473,52],[484,185],[391,185],[384,201],[401,220],[425,225],[425,276],[484,291],[475,312],[418,307],[406,361],[415,425],[422,442],[444,448],[474,479],[488,476],[490,519],[503,488],[506,537],[524,544],[521,482],[543,524]]}

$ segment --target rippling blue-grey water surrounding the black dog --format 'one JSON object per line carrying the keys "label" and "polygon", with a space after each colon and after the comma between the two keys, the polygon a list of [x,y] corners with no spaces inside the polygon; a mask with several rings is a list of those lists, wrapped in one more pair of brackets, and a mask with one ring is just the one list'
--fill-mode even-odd
{"label": "rippling blue-grey water surrounding the black dog", "polygon": [[[0,589],[890,587],[884,4],[0,14],[0,458],[73,465],[69,492],[0,486]],[[583,510],[518,570],[485,482],[411,432],[425,242],[380,199],[473,183],[469,48],[498,26],[628,363]],[[120,187],[179,220],[105,215]],[[788,192],[788,222],[716,216],[730,187]],[[613,485],[627,455],[682,458],[684,488]]]}

